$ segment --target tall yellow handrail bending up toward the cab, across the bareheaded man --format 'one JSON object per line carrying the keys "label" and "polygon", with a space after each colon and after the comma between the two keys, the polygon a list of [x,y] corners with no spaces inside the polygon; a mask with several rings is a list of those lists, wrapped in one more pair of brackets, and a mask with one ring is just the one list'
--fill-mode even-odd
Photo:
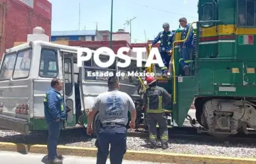
{"label": "tall yellow handrail bending up toward the cab, across the bareheaded man", "polygon": [[189,34],[191,33],[192,24],[195,24],[195,23],[197,23],[197,22],[192,22],[191,23],[191,26],[189,27],[189,32],[188,32],[185,40],[173,41],[173,55],[172,55],[172,60],[171,60],[172,63],[173,63],[173,65],[172,65],[172,67],[173,67],[173,104],[177,103],[176,102],[176,99],[177,99],[177,97],[176,97],[176,78],[175,78],[176,72],[175,72],[175,59],[174,59],[175,43],[181,43],[181,42],[187,41],[188,38],[189,38]]}

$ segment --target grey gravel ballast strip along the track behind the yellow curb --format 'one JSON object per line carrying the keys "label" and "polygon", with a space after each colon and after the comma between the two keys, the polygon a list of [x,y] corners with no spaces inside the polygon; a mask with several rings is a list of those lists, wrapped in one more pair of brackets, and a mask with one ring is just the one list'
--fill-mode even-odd
{"label": "grey gravel ballast strip along the track behind the yellow curb", "polygon": [[[71,132],[70,132],[71,133]],[[85,132],[84,132],[85,133]],[[46,144],[47,134],[32,133],[28,136],[9,130],[0,130],[0,142],[16,142],[24,144]],[[60,145],[75,147],[95,147],[95,138],[90,138],[85,134],[80,136],[61,136]],[[192,140],[172,140],[170,139],[169,149],[162,150],[160,147],[153,150],[148,148],[146,139],[128,137],[128,150],[158,151],[169,153],[186,153],[195,155],[215,155],[226,157],[256,157],[256,144],[224,144],[223,142],[213,143],[211,141],[198,142]]]}

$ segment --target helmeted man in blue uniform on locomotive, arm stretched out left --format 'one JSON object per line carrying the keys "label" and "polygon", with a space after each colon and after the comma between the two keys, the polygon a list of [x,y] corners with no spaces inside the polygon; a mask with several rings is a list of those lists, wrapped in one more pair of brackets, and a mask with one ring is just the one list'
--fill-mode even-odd
{"label": "helmeted man in blue uniform on locomotive, arm stretched out left", "polygon": [[172,54],[172,45],[173,45],[173,39],[174,39],[174,34],[169,30],[169,23],[164,23],[163,24],[163,31],[159,32],[155,40],[152,41],[150,44],[155,45],[158,41],[161,41],[160,47],[159,47],[159,52],[161,55],[161,58],[163,60],[163,64],[165,67],[162,67],[162,76],[166,77],[168,68],[169,68],[169,63],[171,60],[171,54]]}

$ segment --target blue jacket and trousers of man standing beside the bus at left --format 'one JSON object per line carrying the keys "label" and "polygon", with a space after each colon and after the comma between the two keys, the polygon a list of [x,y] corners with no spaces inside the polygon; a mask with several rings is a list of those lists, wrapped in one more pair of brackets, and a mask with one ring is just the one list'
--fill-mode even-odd
{"label": "blue jacket and trousers of man standing beside the bus at left", "polygon": [[[54,159],[57,157],[60,129],[66,119],[64,99],[54,88],[50,88],[44,96],[44,117],[48,124],[48,158]],[[60,121],[56,122],[56,119],[60,119]]]}

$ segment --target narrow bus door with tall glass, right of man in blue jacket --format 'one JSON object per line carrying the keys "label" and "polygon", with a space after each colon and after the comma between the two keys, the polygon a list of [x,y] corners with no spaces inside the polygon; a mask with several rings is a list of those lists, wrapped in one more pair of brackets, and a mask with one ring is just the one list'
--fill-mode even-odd
{"label": "narrow bus door with tall glass, right of man in blue jacket", "polygon": [[75,126],[75,85],[73,72],[73,55],[75,55],[75,53],[62,51],[64,99],[67,109],[67,126]]}

